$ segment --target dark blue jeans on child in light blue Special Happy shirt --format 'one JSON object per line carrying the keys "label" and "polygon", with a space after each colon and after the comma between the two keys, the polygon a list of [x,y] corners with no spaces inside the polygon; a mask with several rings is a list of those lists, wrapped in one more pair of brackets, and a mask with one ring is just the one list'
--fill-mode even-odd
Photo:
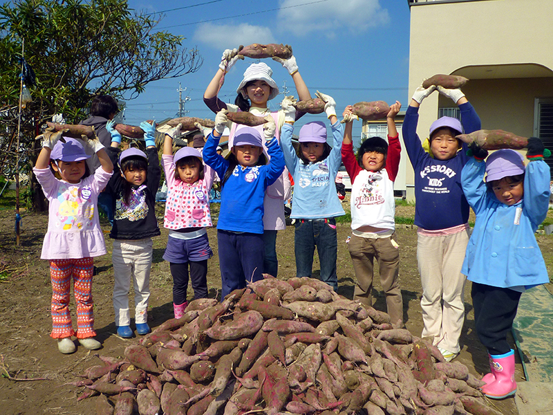
{"label": "dark blue jeans on child in light blue Special Happy shirt", "polygon": [[296,276],[311,277],[315,246],[321,264],[321,281],[338,289],[336,219],[296,219],[294,252]]}

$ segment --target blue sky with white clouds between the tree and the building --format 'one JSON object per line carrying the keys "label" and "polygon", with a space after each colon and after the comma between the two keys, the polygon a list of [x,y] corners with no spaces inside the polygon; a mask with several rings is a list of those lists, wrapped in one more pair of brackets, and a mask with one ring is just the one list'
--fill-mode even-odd
{"label": "blue sky with white clouds between the tree and the building", "polygon": [[[129,0],[129,6],[146,12],[164,12],[158,28],[186,37],[184,46],[198,48],[203,66],[171,80],[146,86],[128,101],[124,122],[174,118],[178,112],[179,82],[187,98],[187,116],[214,118],[203,103],[203,92],[212,79],[226,48],[252,43],[290,44],[299,71],[312,97],[319,90],[335,98],[337,113],[347,104],[384,100],[408,104],[409,6],[406,0]],[[227,73],[219,98],[234,102],[236,86],[251,63],[238,61]],[[296,95],[292,77],[272,59],[263,59],[273,70],[282,92]],[[283,94],[270,101],[279,109]],[[296,124],[325,120],[307,114]],[[296,133],[297,133],[296,131]],[[329,129],[330,132],[330,129]],[[361,134],[361,121],[353,124],[354,137]],[[357,141],[357,140],[355,140]]]}

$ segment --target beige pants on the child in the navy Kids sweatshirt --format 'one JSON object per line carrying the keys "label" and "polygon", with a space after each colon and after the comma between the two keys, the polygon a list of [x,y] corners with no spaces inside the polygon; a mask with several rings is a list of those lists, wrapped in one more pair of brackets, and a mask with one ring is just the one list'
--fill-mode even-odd
{"label": "beige pants on the child in the navy Kids sweatshirt", "polygon": [[418,234],[422,337],[432,336],[436,346],[453,353],[460,351],[459,338],[465,320],[466,277],[461,274],[461,266],[468,241],[468,230],[436,237]]}

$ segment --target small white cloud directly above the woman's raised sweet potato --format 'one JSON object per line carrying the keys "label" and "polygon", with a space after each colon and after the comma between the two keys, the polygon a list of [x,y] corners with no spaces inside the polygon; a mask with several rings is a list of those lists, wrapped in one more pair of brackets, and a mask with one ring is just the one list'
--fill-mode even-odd
{"label": "small white cloud directly above the woman's raised sweet potato", "polygon": [[237,48],[238,45],[253,43],[275,43],[270,28],[250,24],[200,24],[194,32],[194,41],[207,44],[216,49]]}

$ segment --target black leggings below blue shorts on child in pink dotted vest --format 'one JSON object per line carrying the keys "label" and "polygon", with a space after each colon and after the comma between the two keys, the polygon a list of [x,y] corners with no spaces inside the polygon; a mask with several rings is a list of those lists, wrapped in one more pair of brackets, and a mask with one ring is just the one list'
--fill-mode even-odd
{"label": "black leggings below blue shorts on child in pink dotted vest", "polygon": [[207,298],[207,259],[188,261],[184,264],[169,263],[173,276],[173,302],[182,304],[186,301],[188,289],[188,265],[190,264],[190,284],[194,290],[194,299]]}

